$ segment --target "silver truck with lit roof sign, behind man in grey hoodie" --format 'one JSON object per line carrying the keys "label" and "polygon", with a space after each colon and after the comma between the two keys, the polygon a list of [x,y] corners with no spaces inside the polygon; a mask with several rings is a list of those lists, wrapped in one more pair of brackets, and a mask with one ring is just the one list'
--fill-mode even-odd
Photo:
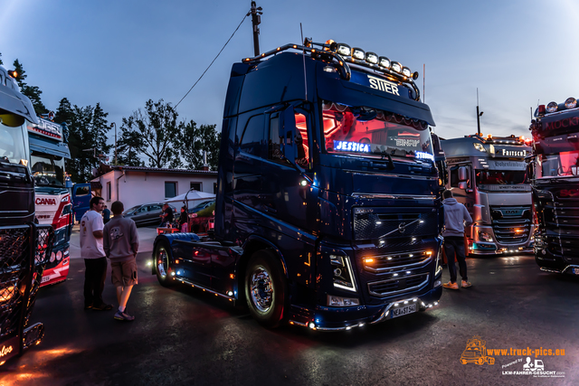
{"label": "silver truck with lit roof sign, behind man in grey hoodie", "polygon": [[531,186],[525,156],[530,140],[478,135],[441,141],[450,180],[447,188],[474,221],[466,230],[475,255],[532,252]]}

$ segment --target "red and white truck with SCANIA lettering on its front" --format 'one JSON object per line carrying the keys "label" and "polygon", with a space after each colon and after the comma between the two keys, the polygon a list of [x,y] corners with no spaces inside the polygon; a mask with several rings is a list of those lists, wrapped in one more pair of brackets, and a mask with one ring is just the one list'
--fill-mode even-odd
{"label": "red and white truck with SCANIA lettering on its front", "polygon": [[71,193],[65,188],[64,160],[71,158],[67,145],[68,130],[52,122],[54,114],[28,122],[30,167],[36,199],[36,220],[54,229],[54,245],[42,286],[60,283],[68,277],[72,231]]}

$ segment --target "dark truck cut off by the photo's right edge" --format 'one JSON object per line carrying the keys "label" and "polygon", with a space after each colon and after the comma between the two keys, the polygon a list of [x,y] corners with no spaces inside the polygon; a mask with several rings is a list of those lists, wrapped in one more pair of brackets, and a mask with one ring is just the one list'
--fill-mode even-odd
{"label": "dark truck cut off by the photo's right edge", "polygon": [[533,134],[535,259],[543,270],[579,275],[579,108],[574,98],[536,109]]}

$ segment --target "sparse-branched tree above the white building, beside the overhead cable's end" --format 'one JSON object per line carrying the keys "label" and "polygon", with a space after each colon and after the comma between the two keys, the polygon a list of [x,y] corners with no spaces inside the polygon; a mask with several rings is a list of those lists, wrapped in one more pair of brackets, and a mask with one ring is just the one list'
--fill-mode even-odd
{"label": "sparse-branched tree above the white building, beside the overhead cable's end", "polygon": [[128,118],[122,119],[121,130],[127,139],[134,140],[138,153],[146,155],[153,167],[178,167],[180,160],[176,151],[176,139],[180,137],[182,125],[177,124],[178,113],[163,99],[154,102],[148,99],[145,111],[140,108]]}

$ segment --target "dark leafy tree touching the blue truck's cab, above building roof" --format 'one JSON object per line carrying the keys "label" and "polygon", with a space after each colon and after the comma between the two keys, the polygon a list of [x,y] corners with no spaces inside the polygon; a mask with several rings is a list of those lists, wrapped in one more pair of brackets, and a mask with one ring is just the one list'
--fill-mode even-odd
{"label": "dark leafy tree touching the blue truck's cab, above building roof", "polygon": [[210,170],[217,169],[219,163],[219,144],[221,135],[215,131],[216,125],[201,125],[189,121],[179,137],[181,156],[185,167],[200,170],[203,167],[203,152],[207,152],[207,164]]}

